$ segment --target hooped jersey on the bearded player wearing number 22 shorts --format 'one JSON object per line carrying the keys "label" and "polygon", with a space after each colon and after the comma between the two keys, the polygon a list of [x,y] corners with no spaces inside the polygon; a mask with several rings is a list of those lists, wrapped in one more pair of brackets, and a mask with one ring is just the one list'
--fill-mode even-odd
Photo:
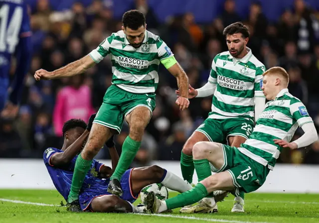
{"label": "hooped jersey on the bearded player wearing number 22 shorts", "polygon": [[247,49],[239,60],[229,51],[213,59],[208,81],[217,86],[208,118],[254,118],[255,97],[265,97],[261,90],[265,66]]}

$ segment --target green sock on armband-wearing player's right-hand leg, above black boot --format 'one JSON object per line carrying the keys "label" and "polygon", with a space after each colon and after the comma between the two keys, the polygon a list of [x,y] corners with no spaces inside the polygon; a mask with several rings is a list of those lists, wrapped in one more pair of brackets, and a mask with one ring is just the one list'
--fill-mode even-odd
{"label": "green sock on armband-wearing player's right-hand leg, above black boot", "polygon": [[122,146],[122,154],[120,156],[119,163],[116,166],[115,171],[110,178],[111,180],[121,180],[124,172],[130,167],[136,153],[140,148],[140,145],[141,142],[137,142],[131,139],[130,136],[126,137]]}

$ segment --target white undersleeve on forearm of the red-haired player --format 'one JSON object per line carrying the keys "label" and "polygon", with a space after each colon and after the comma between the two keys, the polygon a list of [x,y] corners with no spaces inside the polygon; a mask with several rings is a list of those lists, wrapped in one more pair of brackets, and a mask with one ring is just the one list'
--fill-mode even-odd
{"label": "white undersleeve on forearm of the red-haired player", "polygon": [[302,129],[305,133],[300,138],[293,141],[297,144],[298,148],[308,146],[318,140],[318,133],[314,122],[304,124]]}

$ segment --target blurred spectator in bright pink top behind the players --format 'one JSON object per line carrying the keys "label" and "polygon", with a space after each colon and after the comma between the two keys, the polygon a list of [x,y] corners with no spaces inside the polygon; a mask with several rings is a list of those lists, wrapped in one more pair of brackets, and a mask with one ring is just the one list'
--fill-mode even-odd
{"label": "blurred spectator in bright pink top behind the players", "polygon": [[70,78],[70,85],[62,88],[57,94],[53,112],[53,126],[57,136],[62,136],[65,121],[71,118],[88,121],[90,115],[95,112],[91,102],[91,91],[82,82],[82,76],[73,76]]}

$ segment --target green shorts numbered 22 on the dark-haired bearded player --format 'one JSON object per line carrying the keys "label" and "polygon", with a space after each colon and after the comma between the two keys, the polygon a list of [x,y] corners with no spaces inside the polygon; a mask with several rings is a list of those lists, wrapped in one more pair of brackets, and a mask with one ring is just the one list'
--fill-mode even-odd
{"label": "green shorts numbered 22 on the dark-haired bearded player", "polygon": [[226,143],[229,136],[239,135],[248,139],[253,131],[254,121],[249,118],[206,118],[195,131],[206,135],[211,142]]}

